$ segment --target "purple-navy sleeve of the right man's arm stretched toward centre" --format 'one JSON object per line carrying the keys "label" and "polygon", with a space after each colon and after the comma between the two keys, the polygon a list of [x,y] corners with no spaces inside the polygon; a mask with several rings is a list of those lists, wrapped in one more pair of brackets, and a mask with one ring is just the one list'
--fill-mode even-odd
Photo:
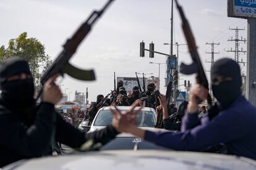
{"label": "purple-navy sleeve of the right man's arm stretched toward centre", "polygon": [[[232,113],[233,118],[231,118],[230,114],[218,115],[208,124],[202,124],[177,134],[173,132],[146,131],[145,140],[174,150],[196,151],[247,135],[249,129],[242,121],[241,116]],[[237,123],[243,126],[237,126]]]}

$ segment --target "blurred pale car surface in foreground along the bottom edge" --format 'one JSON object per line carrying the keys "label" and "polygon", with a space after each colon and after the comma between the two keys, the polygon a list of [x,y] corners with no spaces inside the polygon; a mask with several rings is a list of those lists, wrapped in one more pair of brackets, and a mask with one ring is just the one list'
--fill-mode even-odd
{"label": "blurred pale car surface in foreground along the bottom edge", "polygon": [[114,150],[35,158],[4,169],[256,169],[249,158],[214,153]]}

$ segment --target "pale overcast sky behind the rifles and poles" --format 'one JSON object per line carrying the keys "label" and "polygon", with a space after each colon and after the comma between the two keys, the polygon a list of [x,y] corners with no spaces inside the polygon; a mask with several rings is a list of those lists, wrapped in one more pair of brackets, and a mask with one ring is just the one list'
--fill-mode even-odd
{"label": "pale overcast sky behind the rifles and poles", "polygon": [[[100,9],[106,0],[93,1],[67,1],[67,0],[23,0],[23,1],[0,1],[0,45],[7,45],[9,39],[17,38],[19,34],[26,31],[28,37],[39,39],[45,44],[46,54],[52,59],[62,50],[62,45],[69,38],[78,26],[91,14],[93,9]],[[239,32],[239,38],[247,38],[247,20],[227,17],[227,5],[225,0],[180,0],[184,7],[187,18],[192,27],[197,41],[198,51],[205,70],[210,70],[211,47],[205,42],[220,42],[216,46],[215,59],[230,57],[234,59],[234,53],[226,52],[233,47],[234,42],[228,41],[235,36],[231,28],[245,28]],[[89,91],[89,101],[96,99],[97,94],[106,95],[113,89],[113,75],[135,76],[135,71],[153,73],[158,76],[158,65],[149,62],[164,63],[163,55],[155,54],[154,59],[139,57],[139,42],[145,42],[148,48],[149,43],[155,43],[155,51],[169,54],[171,29],[171,0],[116,0],[109,7],[106,13],[98,20],[93,30],[80,45],[76,54],[71,60],[79,68],[93,68],[96,73],[96,81],[84,82],[65,76],[60,84],[64,84],[62,91],[70,93],[70,99],[74,99],[75,90]],[[174,7],[174,42],[186,43],[180,17]],[[246,50],[246,44],[241,43]],[[174,46],[174,54],[176,47]],[[241,55],[243,61],[246,55]],[[187,47],[179,47],[179,63],[189,63],[190,55],[187,54]],[[243,67],[243,65],[241,65]],[[244,68],[242,68],[244,70]],[[161,65],[161,93],[165,93],[164,86],[165,66]],[[208,76],[208,72],[207,72]],[[194,76],[183,76],[194,82]],[[183,84],[184,79],[180,80]],[[181,87],[182,89],[182,87]]]}

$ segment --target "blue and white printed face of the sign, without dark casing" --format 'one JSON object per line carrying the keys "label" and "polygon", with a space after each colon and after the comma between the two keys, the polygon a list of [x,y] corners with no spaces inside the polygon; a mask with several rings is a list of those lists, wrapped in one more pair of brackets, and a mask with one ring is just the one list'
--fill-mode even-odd
{"label": "blue and white printed face of the sign, without dark casing", "polygon": [[256,1],[234,0],[234,15],[237,17],[256,17]]}

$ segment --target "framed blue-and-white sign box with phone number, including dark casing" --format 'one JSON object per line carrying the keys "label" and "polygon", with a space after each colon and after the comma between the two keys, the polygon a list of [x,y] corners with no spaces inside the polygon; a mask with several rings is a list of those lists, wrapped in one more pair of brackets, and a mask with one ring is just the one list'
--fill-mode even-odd
{"label": "framed blue-and-white sign box with phone number, including dark casing", "polygon": [[256,17],[256,1],[228,0],[228,17]]}

